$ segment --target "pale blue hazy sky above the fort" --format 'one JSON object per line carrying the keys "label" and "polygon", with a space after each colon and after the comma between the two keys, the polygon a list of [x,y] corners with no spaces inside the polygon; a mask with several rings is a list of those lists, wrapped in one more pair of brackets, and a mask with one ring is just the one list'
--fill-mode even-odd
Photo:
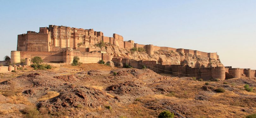
{"label": "pale blue hazy sky above the fort", "polygon": [[217,52],[225,66],[256,69],[256,0],[1,0],[0,60],[16,50],[18,34],[50,24]]}

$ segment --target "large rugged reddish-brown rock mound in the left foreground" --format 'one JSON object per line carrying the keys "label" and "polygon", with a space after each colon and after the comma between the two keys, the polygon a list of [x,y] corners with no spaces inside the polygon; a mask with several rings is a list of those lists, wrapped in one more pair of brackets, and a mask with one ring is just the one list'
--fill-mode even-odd
{"label": "large rugged reddish-brown rock mound in the left foreground", "polygon": [[50,100],[41,101],[38,105],[40,107],[46,107],[52,112],[56,112],[80,106],[98,108],[104,106],[107,101],[114,102],[114,99],[98,89],[92,87],[80,87],[69,89]]}

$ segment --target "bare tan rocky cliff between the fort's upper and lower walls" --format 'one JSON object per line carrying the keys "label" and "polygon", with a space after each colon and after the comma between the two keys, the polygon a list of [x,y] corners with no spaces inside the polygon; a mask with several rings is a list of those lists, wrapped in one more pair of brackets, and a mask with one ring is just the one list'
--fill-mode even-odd
{"label": "bare tan rocky cliff between the fort's upper and lower walls", "polygon": [[154,55],[149,55],[144,52],[131,53],[130,50],[125,48],[119,48],[117,46],[106,46],[101,50],[107,51],[107,53],[113,53],[118,57],[127,57],[125,53],[130,53],[129,58],[134,60],[150,60],[157,61],[158,63],[164,62],[168,65],[189,65],[192,68],[204,68],[204,67],[218,67],[223,66],[220,60],[211,59],[202,56],[195,56],[191,54],[178,53],[168,50],[155,51]]}

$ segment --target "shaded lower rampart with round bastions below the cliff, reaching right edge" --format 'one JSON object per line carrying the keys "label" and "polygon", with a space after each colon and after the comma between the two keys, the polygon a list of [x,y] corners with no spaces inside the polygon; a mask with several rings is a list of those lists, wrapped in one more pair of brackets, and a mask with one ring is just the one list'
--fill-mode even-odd
{"label": "shaded lower rampart with round bastions below the cliff, reaching right edge", "polygon": [[[125,60],[125,61],[124,61]],[[116,63],[123,63],[128,64],[132,66],[133,68],[142,69],[143,65],[146,66],[148,69],[151,69],[157,73],[165,73],[165,74],[172,74],[175,76],[187,76],[187,77],[196,77],[196,78],[202,78],[204,80],[210,80],[210,79],[230,79],[230,78],[240,78],[241,74],[246,74],[249,72],[250,69],[240,69],[240,68],[232,68],[229,67],[210,67],[210,68],[192,68],[188,66],[183,65],[162,65],[158,64],[157,61],[136,61],[136,60],[130,60],[127,61],[126,59],[121,58],[113,58],[112,61]],[[240,73],[240,71],[243,71],[243,73]],[[255,70],[250,70],[250,77],[256,77]],[[248,74],[247,74],[248,75]],[[248,75],[249,77],[249,75]]]}

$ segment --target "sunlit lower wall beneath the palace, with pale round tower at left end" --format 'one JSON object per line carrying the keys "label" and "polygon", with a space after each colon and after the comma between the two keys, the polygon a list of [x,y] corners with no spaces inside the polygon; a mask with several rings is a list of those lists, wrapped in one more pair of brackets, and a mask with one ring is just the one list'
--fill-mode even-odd
{"label": "sunlit lower wall beneath the palace, with pale round tower at left end", "polygon": [[80,52],[79,50],[65,49],[63,52],[33,52],[33,51],[12,51],[11,52],[11,63],[20,63],[21,59],[25,59],[25,64],[30,64],[30,59],[35,56],[40,56],[46,63],[68,63],[71,64],[74,56],[80,58],[82,63],[97,63],[99,60],[110,61],[112,56],[107,53],[98,52]]}

